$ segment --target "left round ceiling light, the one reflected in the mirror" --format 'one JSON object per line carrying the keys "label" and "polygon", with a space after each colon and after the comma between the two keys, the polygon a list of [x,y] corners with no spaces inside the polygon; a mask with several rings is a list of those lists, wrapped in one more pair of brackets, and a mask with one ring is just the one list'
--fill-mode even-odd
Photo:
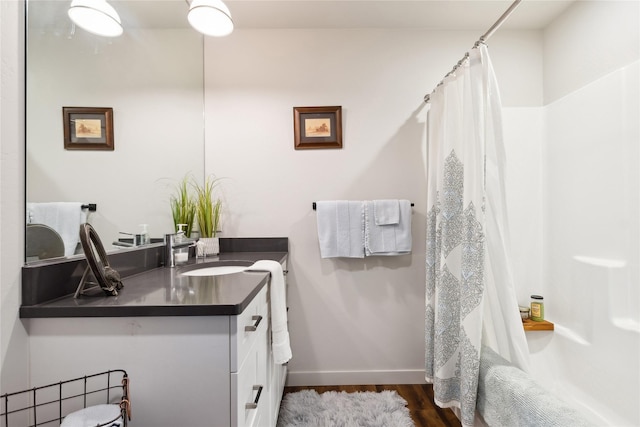
{"label": "left round ceiling light, the one reflected in the mirror", "polygon": [[105,37],[122,34],[118,12],[106,0],[73,0],[67,11],[80,28]]}

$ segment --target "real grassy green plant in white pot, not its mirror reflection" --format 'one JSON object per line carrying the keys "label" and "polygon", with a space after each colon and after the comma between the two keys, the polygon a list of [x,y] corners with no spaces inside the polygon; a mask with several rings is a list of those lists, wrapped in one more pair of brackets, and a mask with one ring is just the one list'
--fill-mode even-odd
{"label": "real grassy green plant in white pot, not its mirror reflection", "polygon": [[196,192],[195,210],[200,229],[200,242],[204,245],[205,255],[217,255],[220,253],[220,242],[218,231],[220,228],[220,214],[222,212],[222,201],[215,197],[214,189],[218,185],[219,179],[208,176],[204,185],[193,183]]}

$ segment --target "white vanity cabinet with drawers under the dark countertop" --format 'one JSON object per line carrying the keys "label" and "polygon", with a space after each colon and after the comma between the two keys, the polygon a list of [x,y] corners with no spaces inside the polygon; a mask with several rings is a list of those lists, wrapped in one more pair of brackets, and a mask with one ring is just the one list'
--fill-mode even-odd
{"label": "white vanity cabinet with drawers under the dark countertop", "polygon": [[265,285],[239,315],[30,318],[31,381],[124,369],[132,426],[275,427],[287,368],[269,316]]}

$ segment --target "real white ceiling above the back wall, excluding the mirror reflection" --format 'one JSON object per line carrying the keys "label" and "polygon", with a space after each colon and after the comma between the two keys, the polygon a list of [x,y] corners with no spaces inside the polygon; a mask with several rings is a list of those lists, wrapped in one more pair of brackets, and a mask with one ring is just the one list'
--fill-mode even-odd
{"label": "real white ceiling above the back wall, excluding the mirror reflection", "polygon": [[[488,29],[511,0],[229,0],[238,28]],[[504,28],[544,28],[570,1],[523,0]]]}

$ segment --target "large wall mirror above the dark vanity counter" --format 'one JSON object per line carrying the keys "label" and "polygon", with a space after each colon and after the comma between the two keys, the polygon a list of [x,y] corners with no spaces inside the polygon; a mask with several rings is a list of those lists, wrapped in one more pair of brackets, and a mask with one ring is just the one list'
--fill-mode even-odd
{"label": "large wall mirror above the dark vanity counter", "polygon": [[[25,200],[95,204],[83,214],[110,252],[141,224],[152,238],[171,232],[175,185],[204,176],[203,36],[184,0],[112,1],[125,28],[115,38],[74,26],[69,3],[26,1]],[[113,150],[65,149],[63,107],[111,108]]]}

